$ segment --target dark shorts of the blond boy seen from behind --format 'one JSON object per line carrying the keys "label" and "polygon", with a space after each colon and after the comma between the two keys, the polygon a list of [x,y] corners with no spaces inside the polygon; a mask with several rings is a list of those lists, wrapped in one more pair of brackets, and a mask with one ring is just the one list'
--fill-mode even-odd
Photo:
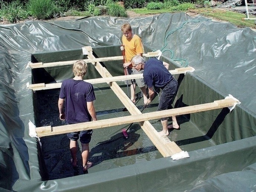
{"label": "dark shorts of the blond boy seen from behind", "polygon": [[[66,123],[66,124],[68,125],[68,123]],[[67,135],[70,140],[77,141],[80,138],[81,143],[87,144],[91,141],[92,132],[93,132],[93,130],[89,129],[89,130],[84,130],[84,131],[67,133]]]}

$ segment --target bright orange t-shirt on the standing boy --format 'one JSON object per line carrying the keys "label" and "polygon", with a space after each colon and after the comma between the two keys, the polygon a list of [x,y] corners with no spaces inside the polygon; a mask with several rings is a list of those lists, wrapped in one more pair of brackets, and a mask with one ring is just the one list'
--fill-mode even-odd
{"label": "bright orange t-shirt on the standing boy", "polygon": [[[142,41],[138,35],[134,34],[129,41],[123,35],[122,42],[124,45],[126,62],[130,62],[133,56],[143,53]],[[129,67],[132,68],[132,64],[130,64]]]}

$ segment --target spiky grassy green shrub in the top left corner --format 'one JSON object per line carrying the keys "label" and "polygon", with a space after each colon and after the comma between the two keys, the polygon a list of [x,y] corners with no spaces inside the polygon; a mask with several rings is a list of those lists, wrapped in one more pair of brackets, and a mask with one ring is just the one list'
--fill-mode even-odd
{"label": "spiky grassy green shrub in the top left corner", "polygon": [[17,21],[26,19],[28,16],[20,1],[12,1],[10,3],[0,1],[0,6],[0,17],[9,23],[17,23]]}

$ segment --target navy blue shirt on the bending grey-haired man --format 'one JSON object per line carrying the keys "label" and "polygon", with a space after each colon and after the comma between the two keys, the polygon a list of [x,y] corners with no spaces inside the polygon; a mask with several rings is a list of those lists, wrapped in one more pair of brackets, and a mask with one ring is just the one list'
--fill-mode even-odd
{"label": "navy blue shirt on the bending grey-haired man", "polygon": [[146,85],[163,88],[173,79],[173,75],[165,68],[163,62],[153,57],[144,64],[143,77]]}

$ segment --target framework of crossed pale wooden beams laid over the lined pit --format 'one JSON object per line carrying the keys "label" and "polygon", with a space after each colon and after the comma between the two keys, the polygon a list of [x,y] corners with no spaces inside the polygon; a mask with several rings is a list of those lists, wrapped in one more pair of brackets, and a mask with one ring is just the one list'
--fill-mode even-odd
{"label": "framework of crossed pale wooden beams laid over the lined pit", "polygon": [[[147,134],[147,136],[150,138],[152,143],[156,146],[156,148],[159,150],[159,152],[164,156],[171,156],[176,153],[181,152],[182,150],[177,146],[175,142],[170,141],[170,139],[167,138],[167,136],[160,136],[158,132],[155,130],[155,128],[151,125],[151,123],[148,120],[152,119],[159,119],[161,117],[170,117],[173,115],[183,115],[188,113],[196,113],[200,111],[206,111],[206,110],[213,110],[213,109],[219,109],[223,107],[229,107],[233,106],[237,103],[236,100],[230,98],[230,99],[223,99],[223,100],[217,100],[213,103],[206,103],[201,105],[194,105],[194,106],[188,106],[188,107],[181,107],[177,109],[169,109],[159,112],[151,112],[151,113],[144,113],[142,114],[140,110],[134,105],[134,103],[129,99],[129,97],[124,93],[124,91],[119,87],[119,85],[115,82],[117,80],[127,80],[127,79],[139,79],[142,76],[136,76],[136,75],[129,75],[129,76],[118,76],[118,77],[112,77],[112,75],[106,70],[105,67],[103,67],[99,62],[102,61],[103,58],[96,58],[92,54],[92,48],[91,46],[84,47],[87,50],[87,56],[88,60],[87,62],[92,62],[95,66],[95,69],[99,72],[99,74],[102,76],[102,78],[99,79],[92,79],[86,80],[86,82],[90,83],[108,83],[113,92],[118,96],[118,98],[121,100],[123,105],[127,108],[129,113],[131,113],[130,116],[125,117],[116,117],[111,119],[103,119],[103,120],[97,120],[94,122],[85,122],[85,123],[77,123],[74,125],[63,125],[63,126],[45,126],[45,127],[39,127],[36,128],[37,136],[48,136],[48,135],[56,135],[61,133],[68,133],[68,132],[74,132],[74,131],[81,131],[86,129],[98,129],[98,128],[105,128],[115,125],[123,125],[126,123],[133,123],[138,122],[141,128],[144,130],[144,132]],[[151,52],[148,54],[144,54],[144,56],[157,56],[157,52]],[[108,57],[111,59],[114,59],[114,57]],[[115,57],[118,58],[118,60],[122,60],[122,56]],[[105,57],[104,59],[107,59]],[[66,62],[66,64],[73,64],[75,61],[72,62]],[[60,65],[60,62],[57,62],[58,65]],[[40,64],[30,64],[32,68],[38,68],[40,67],[49,67],[50,65],[56,66],[55,63],[40,63]],[[36,67],[35,67],[36,66]],[[171,70],[170,72],[172,74],[180,74],[180,73],[186,73],[188,71],[191,71],[190,67],[180,68]],[[33,90],[42,90],[42,89],[54,89],[61,86],[61,83],[52,83],[51,84],[44,84],[39,83],[40,85],[29,85],[29,89]]]}

